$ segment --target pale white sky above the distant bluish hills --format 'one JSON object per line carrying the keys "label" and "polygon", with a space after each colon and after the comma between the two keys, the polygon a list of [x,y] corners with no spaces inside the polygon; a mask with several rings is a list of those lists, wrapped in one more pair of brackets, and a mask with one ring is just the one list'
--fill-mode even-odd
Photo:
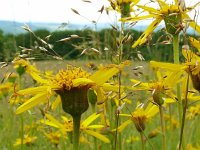
{"label": "pale white sky above the distant bluish hills", "polygon": [[[92,3],[82,0],[0,0],[0,20],[56,23],[88,23],[98,20],[102,23],[111,23],[116,19],[114,13],[108,17],[106,13],[100,16],[100,13],[97,12],[103,5],[109,5],[107,0],[90,1]],[[146,1],[142,0],[142,2]],[[185,0],[185,2],[186,6],[191,6],[200,0]],[[73,13],[71,8],[77,10],[84,17]],[[191,15],[193,14],[194,12],[191,13]]]}

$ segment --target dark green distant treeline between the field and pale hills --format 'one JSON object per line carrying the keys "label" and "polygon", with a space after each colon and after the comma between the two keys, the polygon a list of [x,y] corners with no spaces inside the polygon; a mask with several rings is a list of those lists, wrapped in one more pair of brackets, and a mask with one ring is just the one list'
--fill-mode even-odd
{"label": "dark green distant treeline between the field and pale hills", "polygon": [[[146,44],[133,49],[131,46],[140,35],[141,32],[135,30],[124,33],[125,59],[137,59],[138,53],[141,53],[147,61],[173,61],[171,38],[164,30],[154,32],[148,37]],[[37,60],[47,59],[55,54],[64,59],[111,60],[117,56],[117,49],[122,42],[119,37],[119,31],[114,28],[98,32],[90,29],[55,32],[41,29],[34,31],[34,34],[27,32],[19,35],[4,35],[0,30],[0,61],[11,61],[17,53],[22,53],[22,47],[32,49],[27,51],[27,57]],[[187,37],[181,36],[181,45],[187,41]]]}

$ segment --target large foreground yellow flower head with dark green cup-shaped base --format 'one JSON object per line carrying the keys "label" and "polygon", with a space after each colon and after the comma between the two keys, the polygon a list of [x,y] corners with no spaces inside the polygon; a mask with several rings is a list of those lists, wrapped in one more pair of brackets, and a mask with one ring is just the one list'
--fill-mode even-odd
{"label": "large foreground yellow flower head with dark green cup-shaped base", "polygon": [[[62,101],[63,110],[71,115],[82,114],[88,108],[87,91],[93,88],[97,92],[97,97],[101,87],[113,75],[118,73],[123,65],[103,67],[92,75],[74,66],[68,66],[66,70],[60,70],[55,76],[38,79],[41,86],[27,88],[18,91],[18,95],[34,95],[22,104],[16,111],[20,114],[40,103],[48,102],[49,98],[58,94]],[[39,75],[38,75],[39,76]],[[58,98],[59,103],[59,98]]]}

